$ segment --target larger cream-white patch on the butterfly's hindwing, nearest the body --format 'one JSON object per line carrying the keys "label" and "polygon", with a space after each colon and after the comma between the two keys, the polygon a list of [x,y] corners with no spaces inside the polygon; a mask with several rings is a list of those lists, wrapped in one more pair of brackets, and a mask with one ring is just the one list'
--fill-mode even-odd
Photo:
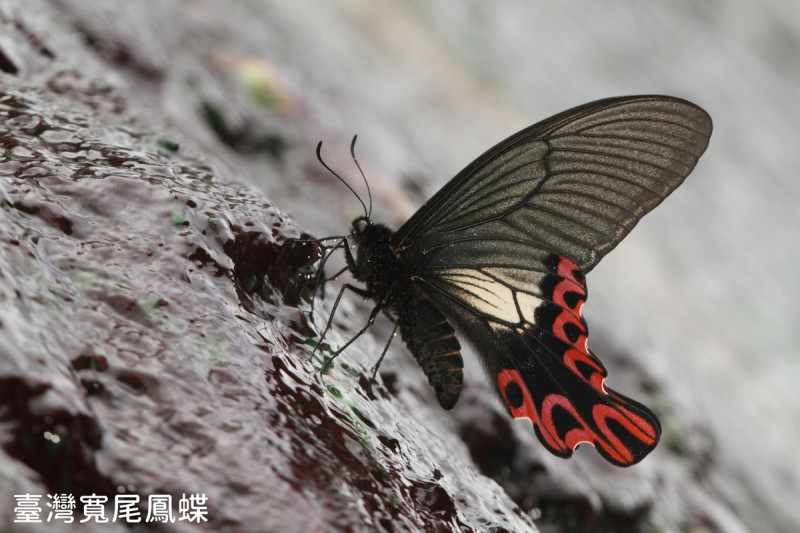
{"label": "larger cream-white patch on the butterfly's hindwing, nearest the body", "polygon": [[500,322],[509,324],[520,322],[511,289],[480,270],[452,269],[441,273],[440,277],[456,288],[452,292],[454,296],[478,312],[494,317]]}

